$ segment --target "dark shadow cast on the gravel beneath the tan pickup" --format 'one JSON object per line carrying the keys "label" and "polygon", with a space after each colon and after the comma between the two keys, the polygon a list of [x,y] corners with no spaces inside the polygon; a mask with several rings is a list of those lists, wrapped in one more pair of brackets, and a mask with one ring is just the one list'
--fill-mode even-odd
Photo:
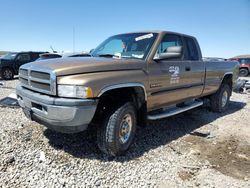
{"label": "dark shadow cast on the gravel beneath the tan pickup", "polygon": [[177,116],[149,122],[146,127],[138,127],[135,142],[124,156],[119,157],[109,157],[101,153],[95,142],[95,134],[90,130],[77,134],[62,134],[46,129],[44,135],[52,147],[64,150],[74,157],[124,162],[167,145],[222,116],[233,114],[245,105],[246,103],[231,101],[225,113],[214,113],[206,107],[200,107]]}

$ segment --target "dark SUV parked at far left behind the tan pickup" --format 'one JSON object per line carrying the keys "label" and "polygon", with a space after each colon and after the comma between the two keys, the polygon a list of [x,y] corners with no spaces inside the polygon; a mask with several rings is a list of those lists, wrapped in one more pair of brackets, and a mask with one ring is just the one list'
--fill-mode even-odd
{"label": "dark SUV parked at far left behind the tan pickup", "polygon": [[43,53],[46,52],[10,52],[4,55],[0,59],[0,77],[5,80],[13,79],[21,65],[35,61]]}

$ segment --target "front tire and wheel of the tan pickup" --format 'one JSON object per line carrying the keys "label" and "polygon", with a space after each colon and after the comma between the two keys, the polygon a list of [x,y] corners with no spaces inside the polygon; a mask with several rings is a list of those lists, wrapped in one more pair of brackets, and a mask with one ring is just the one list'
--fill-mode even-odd
{"label": "front tire and wheel of the tan pickup", "polygon": [[97,129],[98,147],[108,155],[122,155],[132,144],[135,132],[136,110],[128,102],[107,115],[102,126]]}

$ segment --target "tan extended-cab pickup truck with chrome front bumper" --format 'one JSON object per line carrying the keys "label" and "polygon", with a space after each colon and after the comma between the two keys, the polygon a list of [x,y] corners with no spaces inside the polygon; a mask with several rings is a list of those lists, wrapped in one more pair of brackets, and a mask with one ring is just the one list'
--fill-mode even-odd
{"label": "tan extended-cab pickup truck with chrome front bumper", "polygon": [[108,38],[90,57],[21,66],[16,93],[31,120],[64,133],[95,127],[100,150],[117,156],[148,120],[196,108],[204,99],[213,111],[225,111],[238,72],[236,61],[202,61],[192,36],[136,32]]}

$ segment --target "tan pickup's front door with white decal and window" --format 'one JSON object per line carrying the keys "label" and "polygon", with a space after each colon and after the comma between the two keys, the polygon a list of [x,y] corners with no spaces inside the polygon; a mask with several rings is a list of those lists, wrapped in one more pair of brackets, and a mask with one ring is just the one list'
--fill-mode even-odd
{"label": "tan pickup's front door with white decal and window", "polygon": [[180,46],[180,57],[162,59],[149,63],[148,108],[150,110],[181,102],[187,98],[185,87],[189,84],[190,61],[184,60],[183,38],[176,34],[166,34],[156,53],[166,53],[169,47]]}

